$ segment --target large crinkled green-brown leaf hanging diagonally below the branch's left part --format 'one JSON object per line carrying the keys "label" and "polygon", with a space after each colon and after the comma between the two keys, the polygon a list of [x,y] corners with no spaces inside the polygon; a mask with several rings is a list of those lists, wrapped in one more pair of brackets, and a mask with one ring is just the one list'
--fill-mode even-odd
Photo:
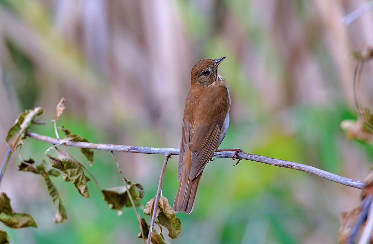
{"label": "large crinkled green-brown leaf hanging diagonally below the branch's left part", "polygon": [[[59,159],[47,155],[51,160],[52,164],[59,165],[59,168],[67,174],[69,180],[74,183],[76,189],[83,197],[89,198],[87,177],[84,174],[81,164],[75,160],[65,149],[56,149]],[[61,166],[63,165],[63,168]]]}

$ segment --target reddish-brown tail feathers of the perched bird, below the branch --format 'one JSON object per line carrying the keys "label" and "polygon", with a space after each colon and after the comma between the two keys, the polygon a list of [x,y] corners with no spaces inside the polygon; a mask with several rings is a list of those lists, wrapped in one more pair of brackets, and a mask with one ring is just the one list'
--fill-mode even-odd
{"label": "reddish-brown tail feathers of the perched bird, below the branch", "polygon": [[191,213],[193,210],[195,195],[197,194],[202,172],[193,180],[189,179],[189,172],[190,169],[188,169],[188,167],[183,167],[178,193],[176,194],[175,201],[173,202],[173,211],[175,211],[175,213],[178,211]]}

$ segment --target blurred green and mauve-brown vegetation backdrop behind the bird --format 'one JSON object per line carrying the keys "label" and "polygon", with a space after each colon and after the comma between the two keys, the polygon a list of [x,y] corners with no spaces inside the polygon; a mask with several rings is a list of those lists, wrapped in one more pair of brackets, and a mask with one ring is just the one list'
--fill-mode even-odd
{"label": "blurred green and mauve-brown vegetation backdrop behind the bird", "polygon": [[[19,112],[41,106],[54,136],[58,125],[91,142],[177,147],[192,65],[227,58],[231,124],[221,148],[292,160],[362,180],[373,150],[345,138],[339,123],[352,106],[352,50],[373,44],[373,13],[346,26],[342,18],[366,1],[281,0],[0,0],[0,155]],[[363,73],[369,104],[372,69]],[[366,81],[366,82],[364,82]],[[47,143],[26,139],[22,157],[43,158]],[[86,163],[77,148],[67,148]],[[154,197],[162,155],[117,154],[123,173]],[[2,156],[1,156],[2,157]],[[172,205],[178,157],[169,160],[163,195]],[[43,179],[8,166],[1,191],[39,228],[6,229],[14,244],[142,243],[131,208],[109,209],[94,182],[91,199],[62,177],[69,219],[56,211]],[[178,213],[181,235],[171,243],[337,243],[341,211],[359,190],[291,169],[216,159],[204,170],[194,211]],[[91,171],[103,187],[122,185],[109,152],[95,152]],[[140,210],[141,214],[142,211]],[[142,214],[143,215],[143,214]],[[149,218],[148,218],[149,220]]]}

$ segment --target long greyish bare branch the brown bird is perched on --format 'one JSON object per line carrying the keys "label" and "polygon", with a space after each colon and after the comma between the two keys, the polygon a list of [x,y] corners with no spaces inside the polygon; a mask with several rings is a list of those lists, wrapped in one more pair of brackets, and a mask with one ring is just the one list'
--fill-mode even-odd
{"label": "long greyish bare branch the brown bird is perched on", "polygon": [[[154,147],[140,147],[140,146],[125,146],[125,145],[113,145],[113,144],[95,144],[90,142],[73,142],[73,141],[64,141],[51,138],[49,136],[39,135],[33,132],[26,132],[26,136],[31,138],[42,140],[44,142],[49,142],[54,145],[61,144],[65,146],[75,146],[78,148],[91,148],[98,150],[106,151],[116,151],[116,152],[133,152],[133,153],[145,153],[145,154],[164,154],[164,155],[176,155],[179,154],[179,148],[154,148]],[[215,152],[213,157],[215,158],[232,158],[235,152]],[[295,169],[303,171],[306,173],[314,174],[324,179],[334,181],[336,183],[351,186],[354,188],[362,189],[364,183],[358,180],[349,179],[337,174],[327,172],[325,170],[317,169],[312,166],[305,164],[295,163],[292,161],[281,160],[277,158],[264,157],[257,154],[250,154],[245,152],[239,152],[235,156],[236,159],[245,159],[251,161],[257,161],[259,163],[270,164],[273,166],[285,167],[289,169]]]}

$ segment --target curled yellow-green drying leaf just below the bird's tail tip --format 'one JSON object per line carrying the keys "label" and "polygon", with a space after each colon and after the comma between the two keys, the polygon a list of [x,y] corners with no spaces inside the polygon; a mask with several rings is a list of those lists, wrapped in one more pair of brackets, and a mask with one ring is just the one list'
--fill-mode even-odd
{"label": "curled yellow-green drying leaf just below the bird's tail tip", "polygon": [[172,210],[168,199],[163,197],[161,194],[159,199],[160,212],[158,214],[158,222],[168,229],[168,236],[171,238],[176,238],[180,235],[181,222],[178,217],[176,217],[175,212]]}

